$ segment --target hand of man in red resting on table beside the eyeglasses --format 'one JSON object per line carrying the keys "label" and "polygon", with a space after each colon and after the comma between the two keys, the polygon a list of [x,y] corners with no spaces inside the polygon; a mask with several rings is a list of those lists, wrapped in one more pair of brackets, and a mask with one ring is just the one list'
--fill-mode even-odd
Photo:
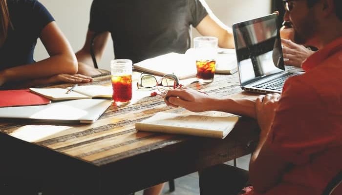
{"label": "hand of man in red resting on table beside the eyeglasses", "polygon": [[204,112],[210,110],[212,98],[207,94],[189,89],[169,90],[166,94],[165,103],[168,106],[182,107],[192,112]]}

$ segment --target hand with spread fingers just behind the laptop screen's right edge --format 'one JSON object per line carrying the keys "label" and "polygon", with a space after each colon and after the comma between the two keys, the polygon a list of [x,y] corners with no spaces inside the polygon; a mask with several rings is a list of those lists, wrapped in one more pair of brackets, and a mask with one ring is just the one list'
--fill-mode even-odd
{"label": "hand with spread fingers just behind the laptop screen's right edge", "polygon": [[299,45],[288,39],[281,39],[281,43],[285,46],[282,48],[284,59],[288,59],[284,60],[285,65],[300,68],[303,61],[315,53],[303,45]]}

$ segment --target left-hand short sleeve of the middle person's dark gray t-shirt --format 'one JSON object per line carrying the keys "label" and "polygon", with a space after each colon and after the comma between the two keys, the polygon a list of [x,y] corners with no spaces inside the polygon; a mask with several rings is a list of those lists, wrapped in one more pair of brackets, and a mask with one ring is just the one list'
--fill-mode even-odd
{"label": "left-hand short sleeve of the middle person's dark gray t-shirt", "polygon": [[106,5],[101,0],[93,0],[90,8],[89,30],[94,32],[107,31],[106,23],[108,19],[104,14],[104,6]]}

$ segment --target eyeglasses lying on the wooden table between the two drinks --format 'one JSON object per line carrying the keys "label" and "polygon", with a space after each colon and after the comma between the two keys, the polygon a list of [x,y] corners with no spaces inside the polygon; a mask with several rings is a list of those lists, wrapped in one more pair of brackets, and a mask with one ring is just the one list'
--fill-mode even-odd
{"label": "eyeglasses lying on the wooden table between the two drinks", "polygon": [[157,86],[173,87],[178,86],[178,78],[173,74],[164,75],[162,78],[157,80],[153,75],[140,75],[140,80],[137,83],[138,88],[153,88]]}

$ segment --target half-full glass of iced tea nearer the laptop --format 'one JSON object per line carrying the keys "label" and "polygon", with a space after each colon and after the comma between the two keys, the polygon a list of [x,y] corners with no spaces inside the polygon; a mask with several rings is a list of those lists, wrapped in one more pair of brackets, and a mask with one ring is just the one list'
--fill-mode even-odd
{"label": "half-full glass of iced tea nearer the laptop", "polygon": [[212,82],[215,75],[217,38],[196,37],[193,39],[196,59],[196,78],[200,82]]}

